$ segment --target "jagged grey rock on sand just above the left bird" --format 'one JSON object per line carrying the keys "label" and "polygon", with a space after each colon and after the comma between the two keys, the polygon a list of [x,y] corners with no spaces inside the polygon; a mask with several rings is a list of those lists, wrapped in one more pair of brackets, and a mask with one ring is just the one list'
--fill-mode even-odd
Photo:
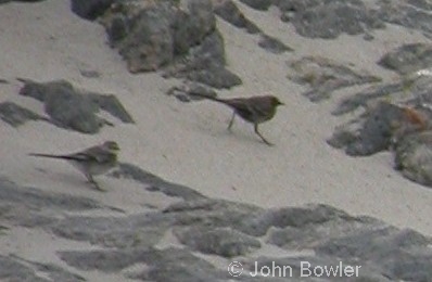
{"label": "jagged grey rock on sand just above the left bird", "polygon": [[76,130],[82,133],[97,133],[109,124],[100,118],[100,110],[110,112],[124,123],[134,123],[130,115],[114,95],[85,93],[76,90],[66,80],[55,80],[46,84],[23,80],[21,95],[31,97],[45,103],[45,111],[52,124]]}

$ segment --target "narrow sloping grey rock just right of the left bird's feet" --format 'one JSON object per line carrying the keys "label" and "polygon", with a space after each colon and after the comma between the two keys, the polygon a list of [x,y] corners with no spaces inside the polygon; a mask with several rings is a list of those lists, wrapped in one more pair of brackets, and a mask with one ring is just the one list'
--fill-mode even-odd
{"label": "narrow sloping grey rock just right of the left bird's feet", "polygon": [[119,163],[117,169],[110,175],[115,178],[134,179],[138,182],[147,184],[147,190],[153,192],[157,191],[168,196],[181,197],[183,200],[199,200],[204,197],[201,193],[188,187],[168,182],[132,164]]}

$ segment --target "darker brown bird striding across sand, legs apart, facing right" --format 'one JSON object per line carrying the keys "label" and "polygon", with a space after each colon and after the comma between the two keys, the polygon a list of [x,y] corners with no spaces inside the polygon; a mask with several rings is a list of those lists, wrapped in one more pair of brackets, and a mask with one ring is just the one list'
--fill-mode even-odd
{"label": "darker brown bird striding across sand, legs apart, facing right", "polygon": [[236,115],[238,115],[254,125],[255,133],[264,143],[270,146],[274,145],[259,132],[258,125],[274,118],[277,107],[284,105],[278,98],[274,95],[255,95],[251,98],[219,99],[201,93],[189,93],[189,95],[208,99],[231,107],[233,113],[228,124],[228,130],[231,130]]}

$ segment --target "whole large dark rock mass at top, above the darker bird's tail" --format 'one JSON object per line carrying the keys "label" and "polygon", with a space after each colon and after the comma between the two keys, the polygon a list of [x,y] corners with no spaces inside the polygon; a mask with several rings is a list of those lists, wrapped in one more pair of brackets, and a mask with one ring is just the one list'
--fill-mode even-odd
{"label": "whole large dark rock mass at top, above the darker bird's tail", "polygon": [[215,88],[241,84],[225,68],[224,40],[211,0],[120,2],[101,23],[131,73],[164,69],[164,77]]}

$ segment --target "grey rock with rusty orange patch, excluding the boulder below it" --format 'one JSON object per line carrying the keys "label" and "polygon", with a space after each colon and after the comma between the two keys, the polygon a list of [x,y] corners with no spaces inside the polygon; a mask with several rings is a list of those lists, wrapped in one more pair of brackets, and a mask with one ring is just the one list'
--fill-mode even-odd
{"label": "grey rock with rusty orange patch, excluding the boulder below it", "polygon": [[[378,85],[350,97],[333,112],[350,113],[359,106],[366,112],[336,127],[328,140],[350,155],[370,155],[394,145],[404,136],[431,128],[432,97],[430,76],[416,75],[396,84]],[[407,100],[407,94],[410,99]],[[404,98],[399,104],[385,102]]]}

